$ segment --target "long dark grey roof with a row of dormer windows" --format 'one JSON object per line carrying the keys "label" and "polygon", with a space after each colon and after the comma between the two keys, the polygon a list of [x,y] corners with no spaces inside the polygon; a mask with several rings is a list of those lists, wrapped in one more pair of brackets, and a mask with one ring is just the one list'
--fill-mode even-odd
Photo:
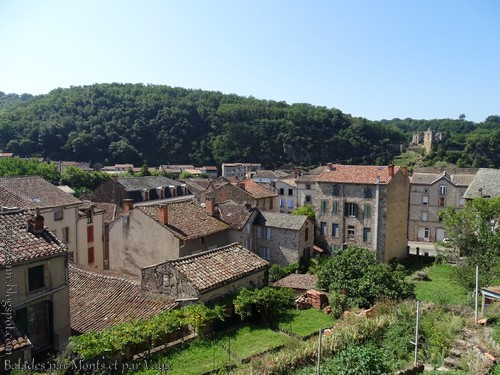
{"label": "long dark grey roof with a row of dormer windows", "polygon": [[113,176],[97,187],[92,201],[122,204],[124,199],[132,199],[139,203],[190,194],[185,184],[163,176]]}

